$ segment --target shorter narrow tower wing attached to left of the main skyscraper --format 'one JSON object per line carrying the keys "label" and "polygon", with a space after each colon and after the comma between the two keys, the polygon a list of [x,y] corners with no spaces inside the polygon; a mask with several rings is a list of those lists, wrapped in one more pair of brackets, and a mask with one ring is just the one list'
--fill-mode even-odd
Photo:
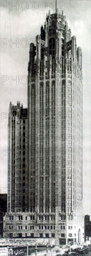
{"label": "shorter narrow tower wing attached to left of the main skyscraper", "polygon": [[28,210],[27,108],[10,102],[8,118],[7,212]]}

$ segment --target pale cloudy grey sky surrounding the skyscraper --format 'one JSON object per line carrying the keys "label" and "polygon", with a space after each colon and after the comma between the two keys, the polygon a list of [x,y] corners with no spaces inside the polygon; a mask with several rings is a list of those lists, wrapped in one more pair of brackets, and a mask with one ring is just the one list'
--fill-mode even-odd
{"label": "pale cloudy grey sky surrounding the skyscraper", "polygon": [[[35,3],[34,3],[35,2]],[[11,3],[11,4],[10,4]],[[1,1],[1,56],[0,56],[0,193],[7,192],[7,124],[8,108],[12,101],[27,107],[27,67],[29,44],[35,42],[46,13],[55,12],[53,0]],[[64,0],[57,2],[58,11],[64,10],[71,35],[77,38],[77,46],[83,54],[83,209],[91,215],[91,1]],[[16,42],[17,45],[13,42]],[[17,76],[17,84],[16,79]]]}

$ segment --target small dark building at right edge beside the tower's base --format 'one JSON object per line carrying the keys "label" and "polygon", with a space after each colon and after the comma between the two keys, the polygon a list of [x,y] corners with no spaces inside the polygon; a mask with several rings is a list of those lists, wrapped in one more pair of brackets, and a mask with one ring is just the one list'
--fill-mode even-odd
{"label": "small dark building at right edge beside the tower's base", "polygon": [[90,216],[85,215],[84,216],[84,240],[88,240],[88,238],[91,237],[91,221]]}

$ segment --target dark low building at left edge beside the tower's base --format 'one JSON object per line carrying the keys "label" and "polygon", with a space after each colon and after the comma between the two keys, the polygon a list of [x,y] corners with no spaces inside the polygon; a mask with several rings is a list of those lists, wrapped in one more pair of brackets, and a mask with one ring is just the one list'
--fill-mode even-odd
{"label": "dark low building at left edge beside the tower's base", "polygon": [[0,237],[3,237],[3,217],[7,212],[7,194],[0,194]]}

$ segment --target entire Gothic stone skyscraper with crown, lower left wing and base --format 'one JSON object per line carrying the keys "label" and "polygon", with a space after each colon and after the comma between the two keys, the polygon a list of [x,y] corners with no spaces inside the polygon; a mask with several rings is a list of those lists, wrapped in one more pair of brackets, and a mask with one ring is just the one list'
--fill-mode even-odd
{"label": "entire Gothic stone skyscraper with crown, lower left wing and base", "polygon": [[27,88],[27,108],[9,107],[3,235],[81,243],[82,51],[63,11],[49,11],[30,44]]}

